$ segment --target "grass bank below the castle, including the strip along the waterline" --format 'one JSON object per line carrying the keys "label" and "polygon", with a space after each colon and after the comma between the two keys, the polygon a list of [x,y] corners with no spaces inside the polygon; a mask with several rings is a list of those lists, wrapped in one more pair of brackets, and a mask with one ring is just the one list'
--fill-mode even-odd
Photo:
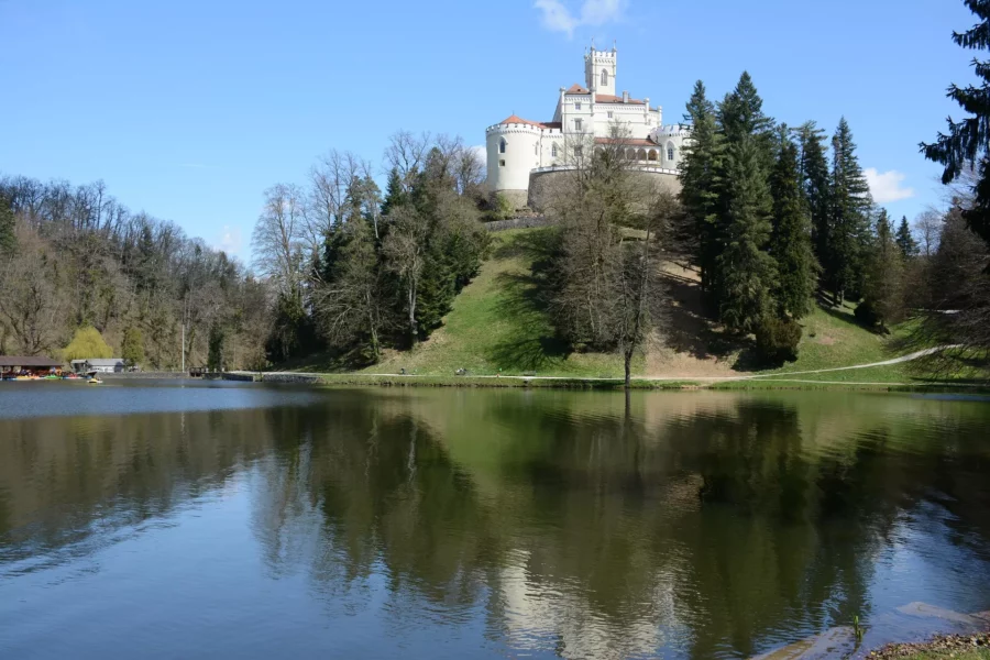
{"label": "grass bank below the castle, including the strip along the waterline", "polygon": [[[491,258],[477,277],[454,300],[443,326],[428,341],[411,351],[386,351],[380,364],[354,373],[342,373],[339,365],[317,355],[284,365],[283,369],[318,373],[329,384],[346,385],[435,385],[435,386],[530,386],[530,387],[615,387],[623,374],[622,359],[609,353],[571,351],[554,337],[550,318],[540,296],[540,282],[534,276],[534,263],[540,258],[547,229],[499,232],[493,237]],[[671,388],[712,386],[728,388],[778,387],[931,387],[938,383],[987,385],[977,372],[926,378],[910,363],[864,370],[807,374],[817,370],[868,364],[888,360],[892,353],[889,338],[860,327],[853,306],[818,305],[802,319],[804,333],[799,359],[778,370],[759,370],[752,348],[728,337],[702,308],[696,273],[670,265],[663,278],[671,296],[671,314],[663,337],[651,343],[634,362],[637,387]],[[903,329],[900,329],[903,331]],[[895,330],[894,337],[897,337]],[[403,378],[393,374],[416,375]],[[466,370],[468,376],[455,376]],[[479,376],[556,376],[552,381],[531,378],[522,382]],[[745,382],[719,383],[717,378],[755,376]],[[964,377],[965,376],[965,377]],[[663,377],[666,381],[647,378]],[[594,382],[573,381],[595,378]]]}

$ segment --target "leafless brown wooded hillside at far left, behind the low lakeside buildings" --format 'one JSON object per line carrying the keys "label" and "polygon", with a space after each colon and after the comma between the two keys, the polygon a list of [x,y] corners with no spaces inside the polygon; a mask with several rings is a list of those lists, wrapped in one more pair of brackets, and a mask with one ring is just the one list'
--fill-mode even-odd
{"label": "leafless brown wooded hillside at far left, behind the low lakeside buildings", "polygon": [[185,351],[187,364],[260,369],[268,311],[267,286],[235,258],[102,182],[0,177],[0,354],[174,370]]}

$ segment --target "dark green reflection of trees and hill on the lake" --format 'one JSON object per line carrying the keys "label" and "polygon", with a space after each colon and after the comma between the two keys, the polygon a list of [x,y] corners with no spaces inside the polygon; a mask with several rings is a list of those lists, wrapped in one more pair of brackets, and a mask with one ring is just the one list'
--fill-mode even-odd
{"label": "dark green reflection of trees and hill on the lake", "polygon": [[241,476],[268,578],[305,575],[328,617],[377,609],[402,636],[483,612],[519,651],[745,656],[925,600],[924,576],[878,576],[905,535],[938,548],[943,605],[990,606],[988,420],[853,394],[461,391],[0,420],[0,579]]}

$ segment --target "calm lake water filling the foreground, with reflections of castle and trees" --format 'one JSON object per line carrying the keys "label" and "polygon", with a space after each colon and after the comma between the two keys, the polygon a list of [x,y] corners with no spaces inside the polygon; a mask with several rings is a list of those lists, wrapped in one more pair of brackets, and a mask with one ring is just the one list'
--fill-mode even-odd
{"label": "calm lake water filling the foreground, with reflections of castle and trees", "polygon": [[915,601],[990,608],[990,402],[0,386],[2,658],[735,658]]}

